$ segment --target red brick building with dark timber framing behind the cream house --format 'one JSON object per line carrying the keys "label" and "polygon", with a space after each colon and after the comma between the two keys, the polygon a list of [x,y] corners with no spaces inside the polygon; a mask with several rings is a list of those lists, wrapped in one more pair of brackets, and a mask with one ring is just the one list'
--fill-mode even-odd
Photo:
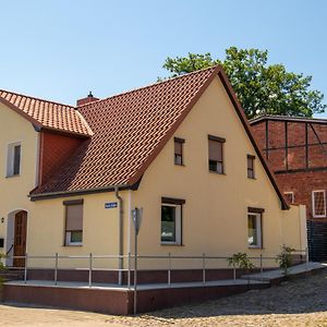
{"label": "red brick building with dark timber framing behind the cream house", "polygon": [[327,119],[264,116],[251,120],[290,202],[305,204],[310,255],[327,259]]}

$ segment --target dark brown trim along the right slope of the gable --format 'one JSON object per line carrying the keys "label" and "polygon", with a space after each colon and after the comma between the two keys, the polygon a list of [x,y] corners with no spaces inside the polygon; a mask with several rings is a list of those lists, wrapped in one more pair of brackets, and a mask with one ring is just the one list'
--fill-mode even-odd
{"label": "dark brown trim along the right slope of the gable", "polygon": [[277,183],[277,180],[275,179],[272,170],[269,168],[268,162],[266,161],[262,150],[259,149],[256,141],[254,140],[254,136],[252,134],[251,126],[250,126],[247,118],[244,113],[244,110],[243,110],[240,101],[238,100],[238,97],[237,97],[237,95],[235,95],[235,93],[234,93],[227,75],[225,74],[223,70],[219,70],[218,76],[219,76],[219,78],[220,78],[220,81],[221,81],[221,83],[222,83],[230,100],[232,101],[232,104],[235,108],[235,111],[237,111],[237,113],[238,113],[238,116],[239,116],[239,118],[240,118],[240,120],[241,120],[241,122],[244,126],[244,130],[245,130],[245,132],[246,132],[246,134],[247,134],[247,136],[249,136],[249,138],[250,138],[250,141],[251,141],[251,143],[252,143],[252,145],[253,145],[253,147],[254,147],[254,149],[255,149],[255,152],[256,152],[256,154],[257,154],[257,156],[258,156],[258,158],[259,158],[267,175],[268,175],[268,178],[270,179],[270,182],[271,182],[271,184],[272,184],[272,186],[274,186],[274,189],[275,189],[275,191],[276,191],[279,199],[280,199],[281,208],[283,210],[288,210],[290,208],[290,206],[289,206],[283,193],[281,192],[281,189],[278,186],[278,183]]}

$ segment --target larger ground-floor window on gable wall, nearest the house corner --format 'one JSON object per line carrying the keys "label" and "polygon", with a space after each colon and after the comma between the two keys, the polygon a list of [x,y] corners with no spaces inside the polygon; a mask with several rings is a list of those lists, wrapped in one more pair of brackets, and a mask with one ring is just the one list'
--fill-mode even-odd
{"label": "larger ground-floor window on gable wall, nearest the house corner", "polygon": [[182,244],[182,206],[184,199],[161,198],[161,244]]}

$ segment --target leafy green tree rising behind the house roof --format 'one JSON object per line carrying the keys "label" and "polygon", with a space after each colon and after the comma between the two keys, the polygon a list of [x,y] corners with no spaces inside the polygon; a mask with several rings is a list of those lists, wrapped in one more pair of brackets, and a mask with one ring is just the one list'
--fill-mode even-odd
{"label": "leafy green tree rising behind the house roof", "polygon": [[164,68],[174,77],[221,64],[249,119],[262,114],[312,117],[325,111],[324,95],[311,89],[312,76],[267,62],[267,50],[231,47],[225,60],[214,59],[210,53],[189,53],[167,58]]}

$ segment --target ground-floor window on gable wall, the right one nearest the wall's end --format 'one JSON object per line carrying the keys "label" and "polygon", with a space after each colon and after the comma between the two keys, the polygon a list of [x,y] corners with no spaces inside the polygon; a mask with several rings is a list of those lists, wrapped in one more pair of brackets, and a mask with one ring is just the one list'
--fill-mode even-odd
{"label": "ground-floor window on gable wall, the right one nearest the wall's end", "polygon": [[249,208],[247,209],[247,246],[263,247],[263,219],[264,209]]}

